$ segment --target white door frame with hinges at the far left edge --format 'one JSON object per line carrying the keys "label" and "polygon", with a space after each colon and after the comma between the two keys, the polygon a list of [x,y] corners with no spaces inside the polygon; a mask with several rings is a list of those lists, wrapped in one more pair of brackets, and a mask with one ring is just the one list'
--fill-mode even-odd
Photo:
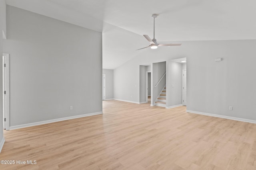
{"label": "white door frame with hinges at the far left edge", "polygon": [[[10,129],[10,67],[9,67],[9,54],[3,53],[3,118],[6,119],[4,129]],[[4,66],[5,64],[5,66]],[[6,94],[4,94],[6,91]]]}

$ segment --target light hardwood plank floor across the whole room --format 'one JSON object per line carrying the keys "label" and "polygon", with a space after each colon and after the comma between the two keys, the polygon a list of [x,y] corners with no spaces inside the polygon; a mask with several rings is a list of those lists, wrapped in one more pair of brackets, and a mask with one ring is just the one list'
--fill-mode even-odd
{"label": "light hardwood plank floor across the whole room", "polygon": [[0,169],[256,170],[256,124],[103,102],[103,115],[4,131]]}

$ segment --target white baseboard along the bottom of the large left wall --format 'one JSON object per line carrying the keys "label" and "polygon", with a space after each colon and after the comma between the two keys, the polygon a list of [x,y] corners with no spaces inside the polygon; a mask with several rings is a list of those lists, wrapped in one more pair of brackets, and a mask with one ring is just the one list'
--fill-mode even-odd
{"label": "white baseboard along the bottom of the large left wall", "polygon": [[23,125],[10,126],[10,130],[13,130],[13,129],[20,129],[20,128],[24,128],[24,127],[30,127],[30,126],[36,126],[36,125],[43,125],[43,124],[53,123],[53,122],[57,122],[57,121],[64,121],[64,120],[76,119],[76,118],[80,118],[80,117],[87,117],[87,116],[93,116],[93,115],[100,115],[100,114],[103,114],[102,111],[96,112],[96,113],[83,114],[83,115],[62,117],[62,118],[52,119],[52,120],[46,120],[46,121],[38,121],[38,122],[27,123],[27,124],[23,124]]}

